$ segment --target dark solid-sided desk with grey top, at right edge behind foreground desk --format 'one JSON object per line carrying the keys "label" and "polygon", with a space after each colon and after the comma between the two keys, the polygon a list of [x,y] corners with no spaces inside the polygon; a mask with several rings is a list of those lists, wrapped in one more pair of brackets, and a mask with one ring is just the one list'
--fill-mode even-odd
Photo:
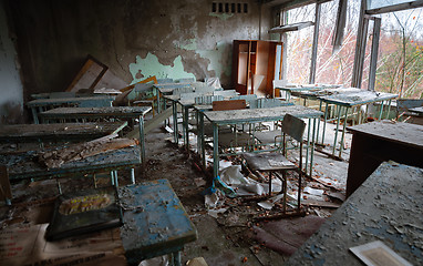
{"label": "dark solid-sided desk with grey top, at right edge behind foreground desk", "polygon": [[372,122],[348,127],[352,132],[347,196],[383,162],[423,168],[423,125]]}

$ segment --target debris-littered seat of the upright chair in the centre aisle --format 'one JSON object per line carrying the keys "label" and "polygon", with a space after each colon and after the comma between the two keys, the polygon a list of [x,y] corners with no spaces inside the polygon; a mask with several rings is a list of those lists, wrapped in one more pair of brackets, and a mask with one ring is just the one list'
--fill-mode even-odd
{"label": "debris-littered seat of the upright chair in the centre aisle", "polygon": [[243,157],[247,161],[252,171],[279,171],[296,170],[297,165],[286,158],[281,153],[244,153]]}

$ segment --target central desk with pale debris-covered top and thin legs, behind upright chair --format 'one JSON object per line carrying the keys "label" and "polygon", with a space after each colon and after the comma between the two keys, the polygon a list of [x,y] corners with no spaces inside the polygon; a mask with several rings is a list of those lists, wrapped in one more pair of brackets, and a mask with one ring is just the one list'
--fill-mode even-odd
{"label": "central desk with pale debris-covered top and thin legs, behind upright chair", "polygon": [[[230,110],[230,111],[207,111],[204,112],[203,115],[209,120],[213,124],[213,168],[214,168],[214,177],[218,175],[219,171],[219,147],[218,147],[218,127],[221,125],[230,125],[230,124],[243,124],[243,123],[259,123],[259,122],[271,122],[271,121],[281,121],[283,120],[285,114],[291,114],[299,119],[309,119],[308,126],[308,145],[311,143],[311,152],[310,152],[310,175],[312,174],[312,160],[313,160],[313,150],[314,150],[314,135],[316,135],[316,120],[320,119],[322,112],[305,108],[301,105],[291,105],[291,106],[279,106],[279,108],[269,108],[269,109],[243,109],[243,110]],[[310,137],[311,130],[311,120],[313,120],[313,130],[312,136]],[[204,132],[204,122],[200,124],[200,132]],[[310,140],[311,139],[311,140]],[[204,145],[204,134],[202,135],[202,153],[204,154],[205,145]],[[205,160],[205,158],[203,158]],[[307,151],[307,160],[308,160],[308,151]],[[205,163],[205,162],[204,162]],[[305,173],[307,174],[307,163]]]}

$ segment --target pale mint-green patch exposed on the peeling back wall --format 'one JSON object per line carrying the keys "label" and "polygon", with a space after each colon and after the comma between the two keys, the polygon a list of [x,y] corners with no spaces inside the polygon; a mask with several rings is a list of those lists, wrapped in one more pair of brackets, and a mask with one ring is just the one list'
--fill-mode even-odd
{"label": "pale mint-green patch exposed on the peeling back wall", "polygon": [[140,82],[145,78],[152,75],[155,75],[157,79],[196,79],[196,76],[193,73],[185,72],[180,55],[176,57],[172,64],[173,66],[161,64],[158,62],[157,57],[149,52],[147,57],[145,57],[145,59],[142,59],[140,55],[136,55],[135,63],[131,63],[128,65],[130,72],[133,78],[131,84]]}

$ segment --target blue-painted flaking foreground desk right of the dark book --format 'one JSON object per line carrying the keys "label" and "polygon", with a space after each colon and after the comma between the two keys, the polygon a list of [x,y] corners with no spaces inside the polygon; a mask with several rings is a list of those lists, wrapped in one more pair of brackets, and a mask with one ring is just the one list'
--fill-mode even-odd
{"label": "blue-painted flaking foreground desk right of the dark book", "polygon": [[118,188],[124,208],[121,237],[128,265],[172,254],[180,266],[184,245],[197,239],[197,231],[167,180]]}

